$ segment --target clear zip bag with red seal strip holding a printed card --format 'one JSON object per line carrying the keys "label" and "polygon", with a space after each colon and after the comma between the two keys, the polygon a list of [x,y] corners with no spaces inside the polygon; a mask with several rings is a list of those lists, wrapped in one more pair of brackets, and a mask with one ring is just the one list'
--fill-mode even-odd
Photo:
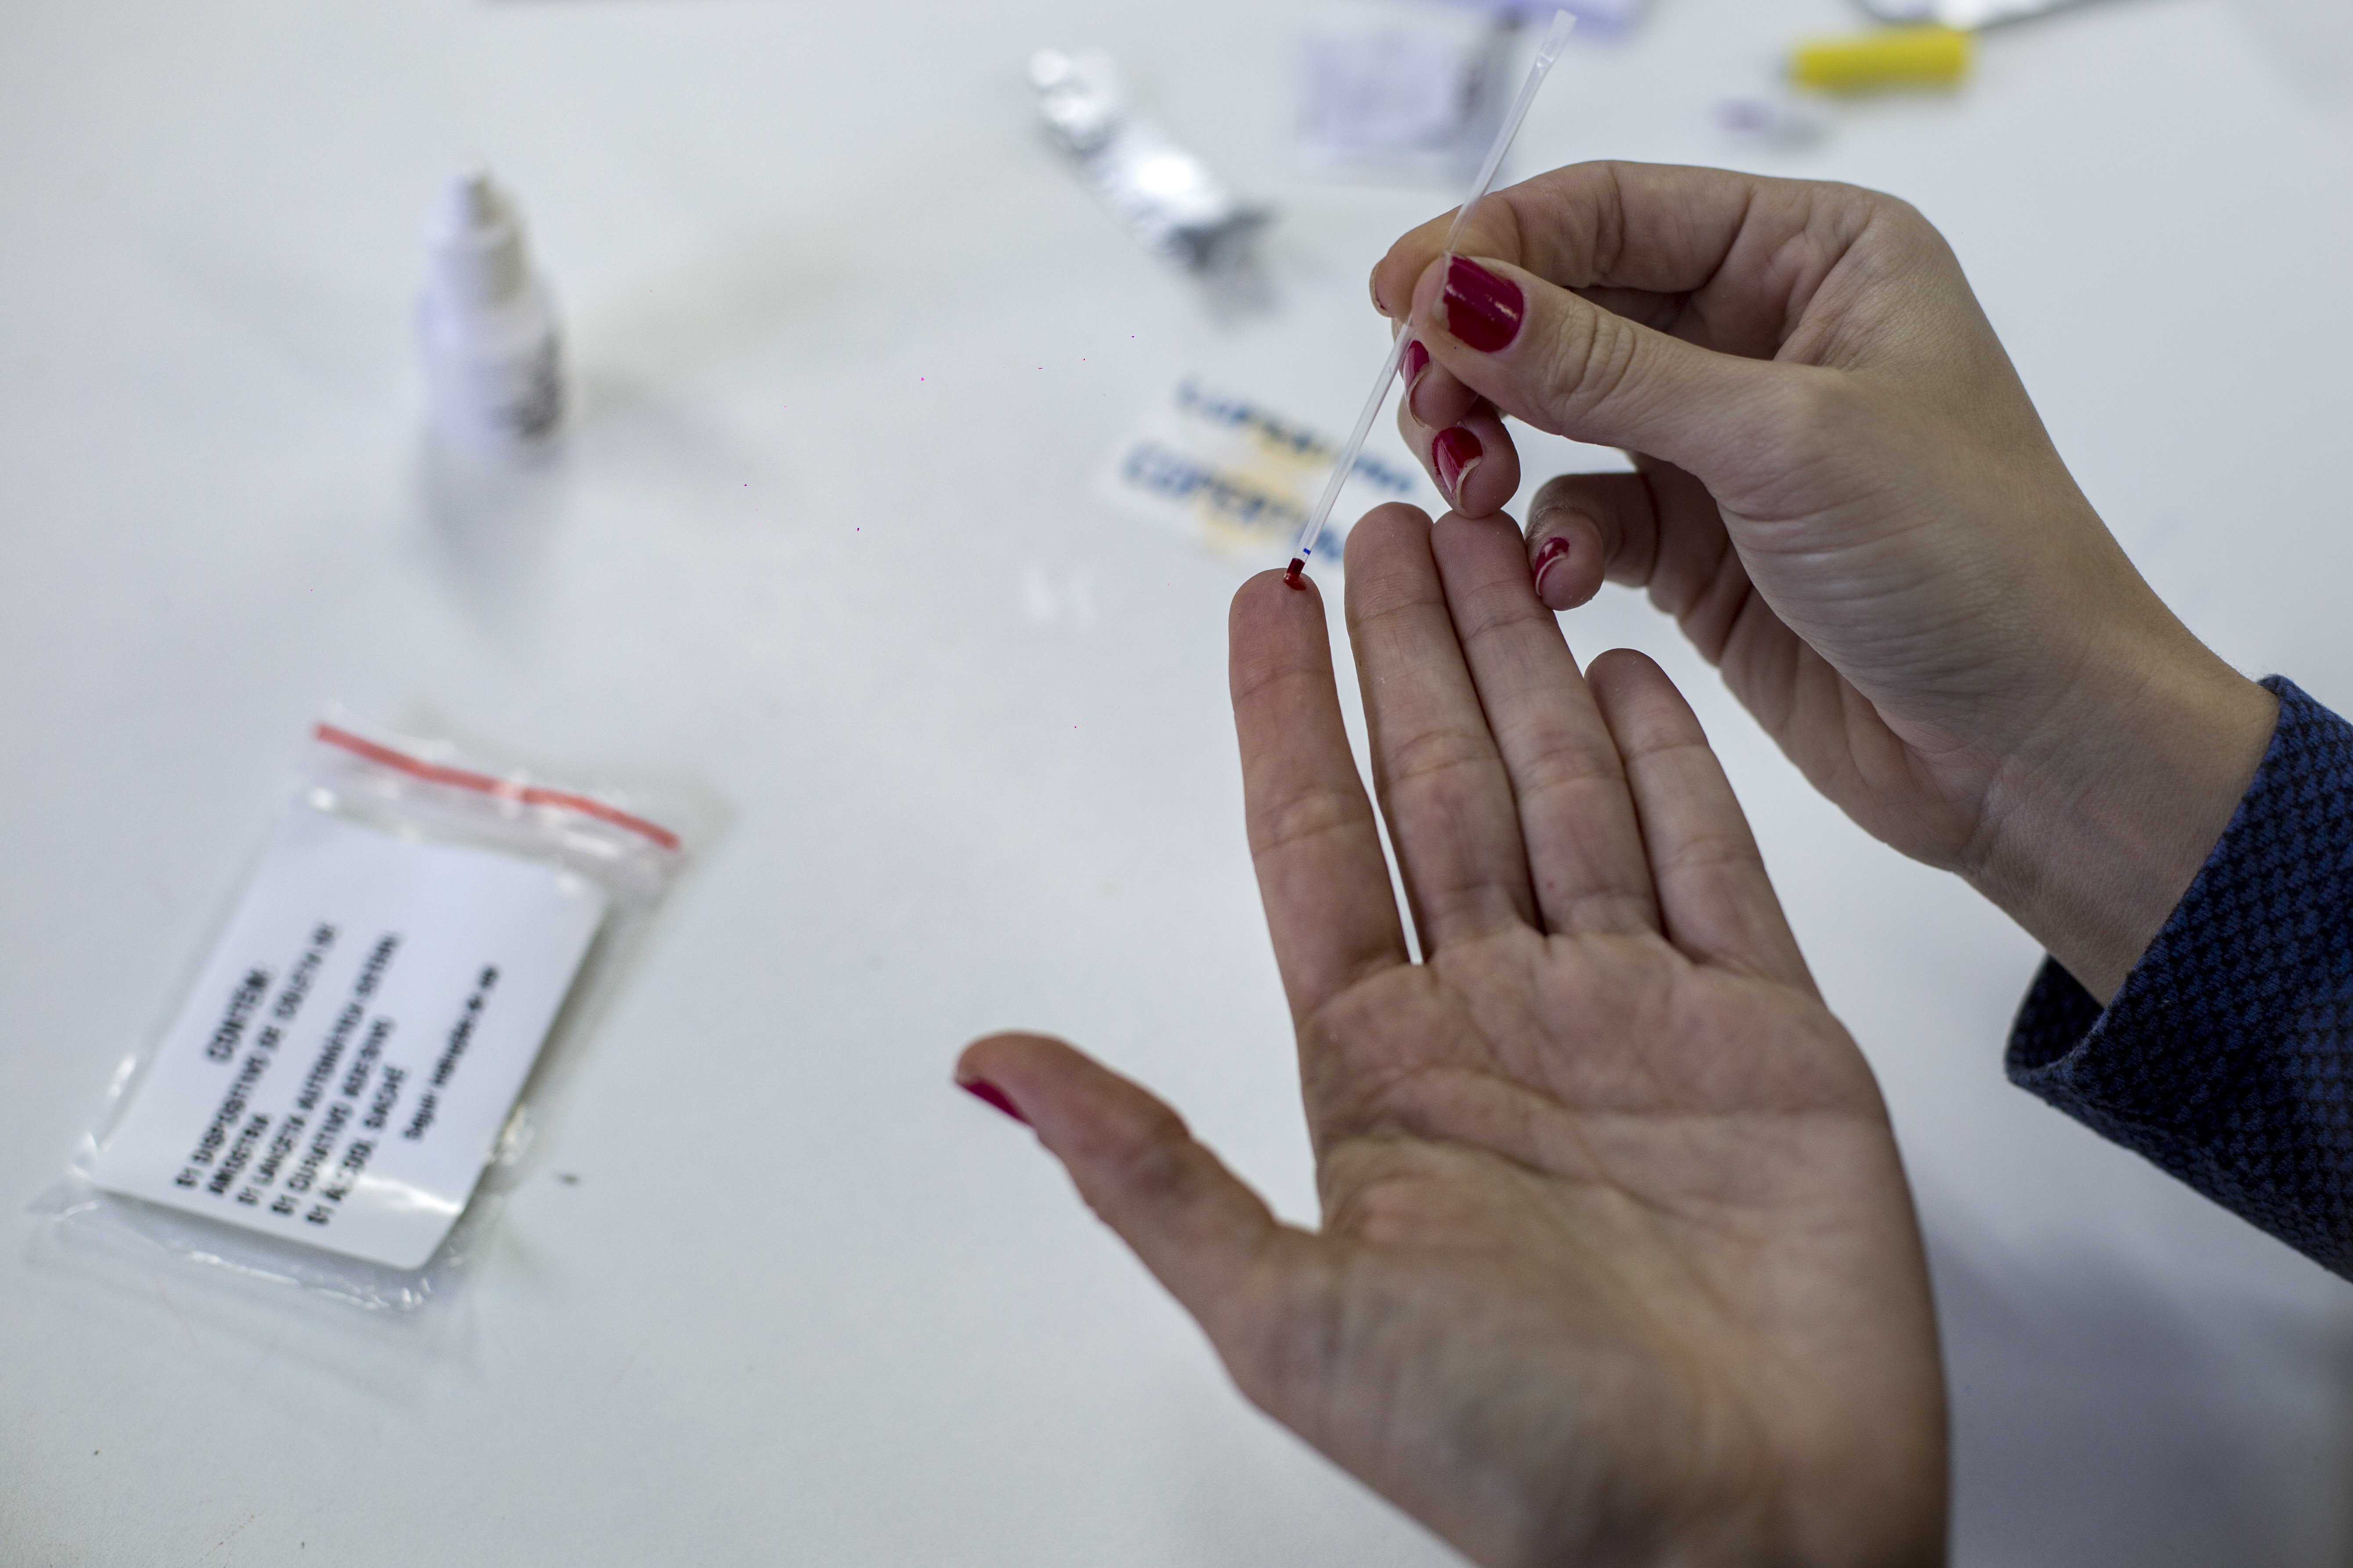
{"label": "clear zip bag with red seal strip holding a printed card", "polygon": [[[73,1239],[421,1307],[480,1251],[534,1105],[682,858],[678,835],[614,790],[492,771],[452,743],[329,715],[172,1020],[115,1070],[66,1178],[33,1208]],[[344,882],[320,882],[318,865]],[[374,867],[398,886],[369,886]],[[308,910],[289,889],[369,914],[306,919],[294,943],[256,938]],[[452,959],[468,992],[454,1006]],[[202,1105],[216,1095],[209,1126],[179,1114],[184,1084]],[[153,1143],[155,1121],[191,1164],[160,1199],[127,1197],[139,1182],[122,1175],[136,1166],[125,1147]],[[421,1161],[433,1180],[402,1175]],[[391,1215],[388,1241],[367,1229],[376,1215]],[[402,1244],[431,1251],[405,1258]]]}

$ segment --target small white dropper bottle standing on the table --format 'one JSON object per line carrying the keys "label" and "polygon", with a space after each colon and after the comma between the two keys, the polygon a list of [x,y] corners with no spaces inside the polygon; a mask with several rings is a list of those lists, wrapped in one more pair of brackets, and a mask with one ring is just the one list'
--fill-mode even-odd
{"label": "small white dropper bottle standing on the table", "polygon": [[565,416],[562,334],[522,216],[487,169],[449,183],[416,308],[433,423],[482,451],[546,447]]}

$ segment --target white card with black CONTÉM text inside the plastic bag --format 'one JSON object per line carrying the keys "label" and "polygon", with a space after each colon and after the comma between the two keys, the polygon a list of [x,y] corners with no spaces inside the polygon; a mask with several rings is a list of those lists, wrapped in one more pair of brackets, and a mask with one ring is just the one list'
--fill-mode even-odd
{"label": "white card with black CONT\u00c9M text inside the plastic bag", "polygon": [[602,919],[560,865],[296,809],[92,1180],[424,1267]]}

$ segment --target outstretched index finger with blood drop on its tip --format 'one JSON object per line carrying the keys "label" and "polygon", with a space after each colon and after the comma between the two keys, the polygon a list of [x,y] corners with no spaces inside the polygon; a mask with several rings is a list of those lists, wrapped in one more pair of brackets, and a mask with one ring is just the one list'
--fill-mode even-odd
{"label": "outstretched index finger with blood drop on its tip", "polygon": [[1332,677],[1322,592],[1261,571],[1233,595],[1228,682],[1259,898],[1292,1020],[1405,964],[1405,924]]}

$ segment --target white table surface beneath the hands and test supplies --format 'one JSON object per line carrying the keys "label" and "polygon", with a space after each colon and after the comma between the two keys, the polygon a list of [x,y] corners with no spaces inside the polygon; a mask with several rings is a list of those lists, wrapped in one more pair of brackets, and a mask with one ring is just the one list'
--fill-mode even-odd
{"label": "white table surface beneath the hands and test supplies", "polygon": [[[0,5],[0,1561],[1447,1561],[948,1088],[974,1032],[1064,1032],[1311,1213],[1224,696],[1259,562],[1092,489],[1188,371],[1344,425],[1384,341],[1365,270],[1454,200],[1297,174],[1304,16]],[[1518,167],[1904,193],[2158,590],[2353,703],[2341,38],[2297,0],[2113,0],[1814,150],[1720,139],[1713,101],[1849,21],[1657,0],[1572,49]],[[1042,150],[1049,42],[1111,47],[1282,207],[1271,310],[1205,308]],[[421,216],[468,153],[520,193],[581,374],[506,515],[419,442]],[[1638,597],[1569,632],[1692,693],[1880,1070],[1958,1559],[2346,1563],[2353,1293],[2009,1088],[2033,945],[1814,799]],[[24,1213],[329,698],[711,825],[494,1246],[412,1319]]]}

